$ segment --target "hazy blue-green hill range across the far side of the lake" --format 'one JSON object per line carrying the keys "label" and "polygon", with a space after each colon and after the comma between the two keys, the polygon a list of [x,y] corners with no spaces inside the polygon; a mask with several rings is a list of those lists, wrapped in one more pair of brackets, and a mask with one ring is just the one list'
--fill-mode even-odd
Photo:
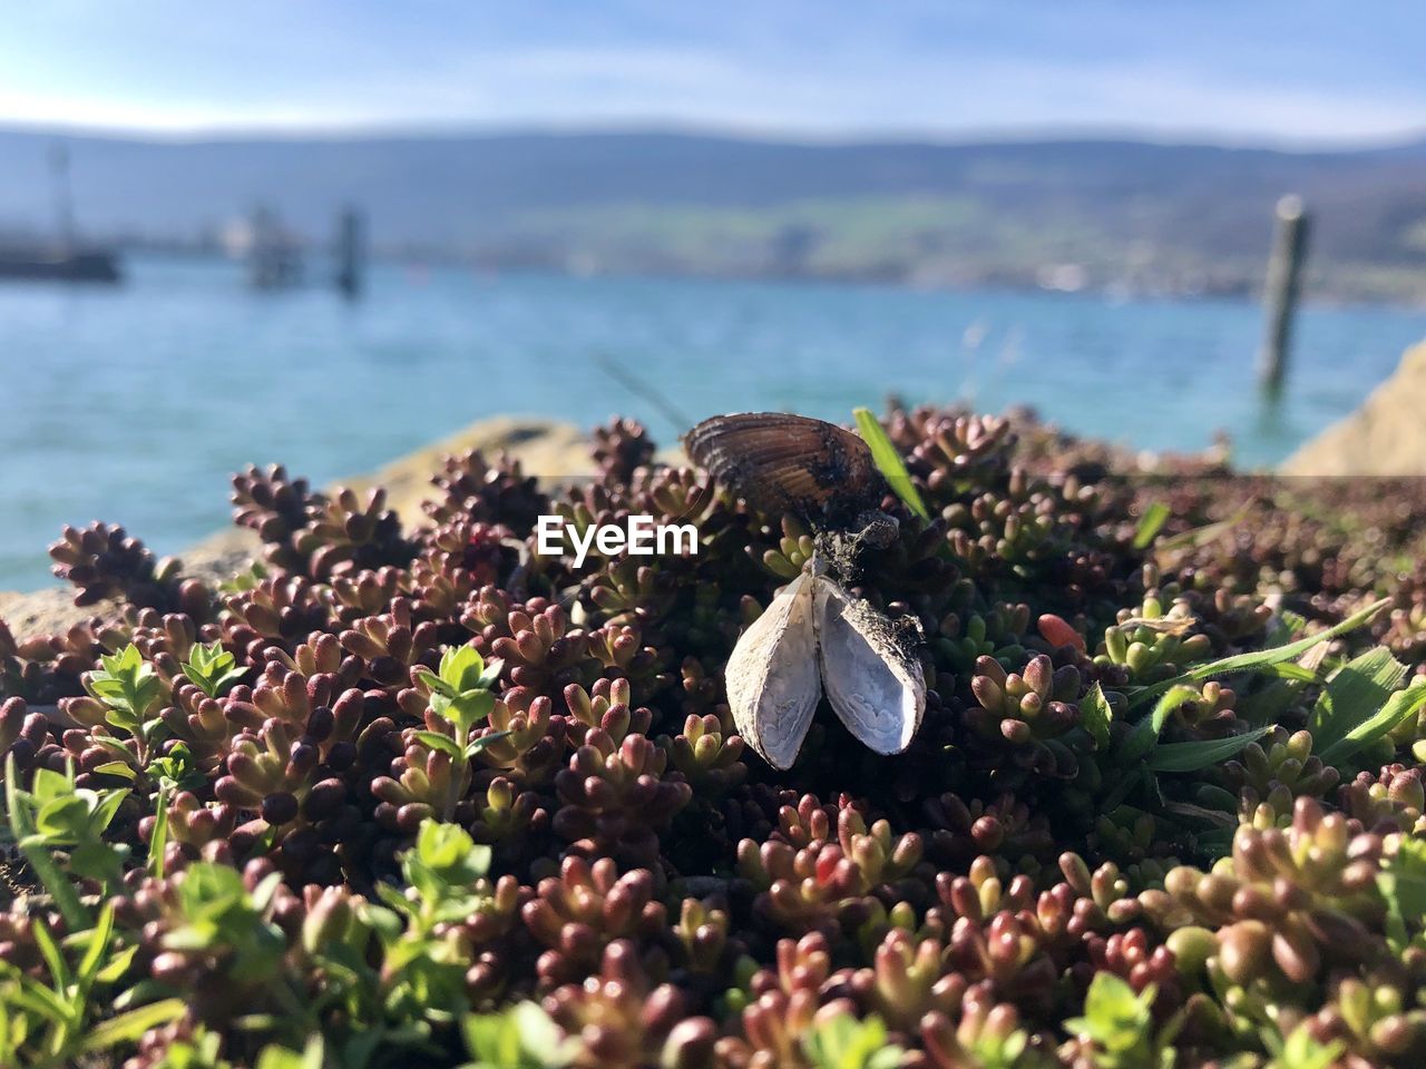
{"label": "hazy blue-green hill range across the far side of the lake", "polygon": [[[0,231],[50,215],[56,135],[0,131]],[[1272,205],[1313,282],[1426,299],[1426,143],[1285,153],[1134,141],[789,144],[674,133],[144,141],[63,135],[81,225],[193,241],[257,204],[324,239],[498,265],[1235,291]]]}

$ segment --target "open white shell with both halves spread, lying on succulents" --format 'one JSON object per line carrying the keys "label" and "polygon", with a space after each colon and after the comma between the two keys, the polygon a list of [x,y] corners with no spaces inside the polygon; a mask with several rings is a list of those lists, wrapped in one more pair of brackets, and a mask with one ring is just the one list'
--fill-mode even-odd
{"label": "open white shell with both halves spread, lying on succulents", "polygon": [[743,631],[724,680],[739,733],[773,768],[797,760],[824,686],[841,723],[878,754],[906,750],[925,711],[921,666],[890,620],[807,572]]}

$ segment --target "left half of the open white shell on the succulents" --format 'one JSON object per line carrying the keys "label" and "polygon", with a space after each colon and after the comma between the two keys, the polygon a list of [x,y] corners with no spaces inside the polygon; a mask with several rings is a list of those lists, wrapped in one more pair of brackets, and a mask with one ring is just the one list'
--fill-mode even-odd
{"label": "left half of the open white shell on the succulents", "polygon": [[791,768],[821,697],[809,573],[743,631],[723,677],[739,734],[773,768]]}

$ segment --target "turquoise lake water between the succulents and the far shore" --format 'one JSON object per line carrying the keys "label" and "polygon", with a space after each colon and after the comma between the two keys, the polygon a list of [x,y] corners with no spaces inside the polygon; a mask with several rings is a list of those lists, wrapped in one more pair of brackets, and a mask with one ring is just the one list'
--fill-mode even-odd
{"label": "turquoise lake water between the succulents and the far shore", "polygon": [[63,523],[106,519],[155,552],[228,517],[228,476],[282,462],[325,483],[472,419],[674,428],[603,371],[636,371],[689,418],[793,409],[846,420],[887,392],[1025,403],[1141,448],[1243,465],[1286,456],[1426,338],[1426,311],[1309,308],[1275,413],[1255,391],[1259,309],[1231,301],[773,282],[374,271],[366,298],[255,294],[222,262],[135,259],[127,285],[0,288],[0,590],[53,582]]}

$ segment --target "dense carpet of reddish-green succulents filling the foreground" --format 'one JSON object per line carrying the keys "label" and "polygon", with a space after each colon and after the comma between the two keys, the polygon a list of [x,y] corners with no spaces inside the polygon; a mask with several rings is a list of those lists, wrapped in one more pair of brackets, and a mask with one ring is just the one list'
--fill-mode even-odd
{"label": "dense carpet of reddish-green succulents filling the foreground", "polygon": [[[887,436],[930,519],[841,579],[921,727],[787,770],[726,666],[833,543],[637,423],[579,486],[446,458],[421,525],[248,469],[221,593],[66,529],[96,616],[0,624],[0,1063],[1417,1063],[1423,485]],[[696,552],[575,567],[540,515]]]}

